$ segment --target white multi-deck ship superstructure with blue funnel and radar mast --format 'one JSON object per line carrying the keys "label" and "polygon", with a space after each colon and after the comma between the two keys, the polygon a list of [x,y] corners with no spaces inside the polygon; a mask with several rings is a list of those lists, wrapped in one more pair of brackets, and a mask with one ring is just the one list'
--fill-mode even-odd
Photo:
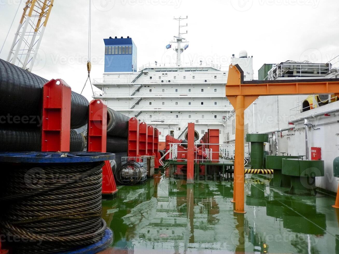
{"label": "white multi-deck ship superstructure with blue funnel and radar mast", "polygon": [[[233,107],[225,97],[228,66],[223,70],[202,62],[181,64],[180,55],[188,47],[182,35],[179,30],[174,37],[173,43],[178,44],[174,48],[176,64],[155,62],[143,65],[138,72],[136,46],[131,38],[104,39],[105,72],[102,79],[93,80],[102,92],[96,93],[95,98],[159,129],[159,141],[165,141],[167,134],[184,139],[187,123],[194,122],[200,136],[207,129],[219,129],[220,143],[224,143],[226,119],[233,114]],[[171,46],[168,44],[167,48]],[[233,56],[231,62],[241,66],[245,80],[253,79],[253,58],[247,57],[246,51],[241,51],[238,58]]]}

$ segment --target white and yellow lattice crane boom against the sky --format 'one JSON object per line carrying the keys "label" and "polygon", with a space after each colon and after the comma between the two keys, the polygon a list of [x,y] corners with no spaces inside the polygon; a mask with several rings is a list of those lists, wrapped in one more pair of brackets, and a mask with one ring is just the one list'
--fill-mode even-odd
{"label": "white and yellow lattice crane boom against the sky", "polygon": [[32,71],[54,0],[27,0],[7,61]]}

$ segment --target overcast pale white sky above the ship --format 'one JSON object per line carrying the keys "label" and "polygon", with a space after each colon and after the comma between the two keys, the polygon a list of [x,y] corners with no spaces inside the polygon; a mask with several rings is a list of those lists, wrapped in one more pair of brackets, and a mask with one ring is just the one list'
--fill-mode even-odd
{"label": "overcast pale white sky above the ship", "polygon": [[[0,0],[0,47],[19,3]],[[2,59],[7,58],[24,3]],[[338,11],[338,0],[92,0],[91,77],[102,78],[103,39],[109,36],[133,39],[138,69],[148,62],[175,61],[175,51],[165,46],[178,34],[173,18],[186,15],[184,37],[190,43],[182,62],[213,61],[227,67],[232,54],[245,49],[254,58],[254,77],[264,63],[327,62],[339,55]],[[80,92],[87,77],[87,40],[88,0],[55,0],[32,72],[62,78]],[[84,95],[91,100],[89,86]]]}

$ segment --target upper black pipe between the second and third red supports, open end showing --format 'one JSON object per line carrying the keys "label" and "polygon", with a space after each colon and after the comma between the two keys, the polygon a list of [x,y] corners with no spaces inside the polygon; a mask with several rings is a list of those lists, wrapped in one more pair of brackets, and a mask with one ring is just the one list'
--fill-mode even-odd
{"label": "upper black pipe between the second and third red supports, open end showing", "polygon": [[127,117],[127,115],[107,108],[107,134],[111,136],[127,137],[129,119],[131,118]]}

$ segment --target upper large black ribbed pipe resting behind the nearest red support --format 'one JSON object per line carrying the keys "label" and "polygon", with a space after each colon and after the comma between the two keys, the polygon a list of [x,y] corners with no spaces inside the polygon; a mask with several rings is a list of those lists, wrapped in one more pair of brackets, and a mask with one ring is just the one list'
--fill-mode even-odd
{"label": "upper large black ribbed pipe resting behind the nearest red support", "polygon": [[[48,80],[38,75],[0,59],[0,115],[10,115],[12,118],[18,116],[20,119],[28,117],[29,120],[33,117],[39,117],[41,120],[41,88],[47,82]],[[77,129],[87,123],[88,105],[89,103],[84,96],[72,91],[72,129]],[[2,119],[1,124],[3,124],[3,121]],[[40,127],[41,121],[35,122],[37,123],[32,123],[32,127]],[[24,121],[22,120],[20,123],[24,124]]]}

